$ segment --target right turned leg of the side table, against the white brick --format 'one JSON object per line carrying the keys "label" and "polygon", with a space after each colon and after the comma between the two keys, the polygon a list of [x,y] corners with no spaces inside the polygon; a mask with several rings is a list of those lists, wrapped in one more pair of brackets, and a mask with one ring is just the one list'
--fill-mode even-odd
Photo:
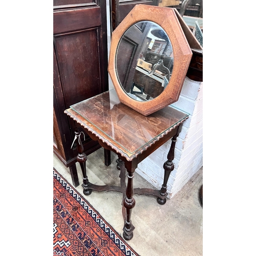
{"label": "right turned leg of the side table, against the white brick", "polygon": [[174,170],[174,163],[173,163],[174,150],[175,150],[175,144],[177,141],[177,137],[179,136],[181,128],[182,128],[182,124],[179,125],[176,135],[174,135],[174,137],[172,138],[172,144],[170,145],[170,150],[167,155],[167,161],[163,164],[164,179],[163,179],[163,184],[162,184],[162,187],[160,190],[160,195],[165,198],[164,199],[159,198],[159,197],[157,198],[157,202],[161,205],[166,203],[167,182],[168,182],[170,173]]}

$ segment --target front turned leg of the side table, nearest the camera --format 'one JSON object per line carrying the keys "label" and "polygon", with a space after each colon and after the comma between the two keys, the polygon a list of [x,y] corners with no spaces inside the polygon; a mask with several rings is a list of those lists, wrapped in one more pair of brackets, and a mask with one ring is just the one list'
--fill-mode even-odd
{"label": "front turned leg of the side table, nearest the camera", "polygon": [[126,186],[126,197],[123,199],[123,206],[126,209],[126,220],[124,221],[123,226],[123,238],[125,240],[131,240],[133,238],[133,230],[135,227],[132,224],[131,216],[132,216],[132,209],[135,206],[135,199],[133,198],[134,190],[133,190],[133,173],[135,168],[127,168],[127,186]]}

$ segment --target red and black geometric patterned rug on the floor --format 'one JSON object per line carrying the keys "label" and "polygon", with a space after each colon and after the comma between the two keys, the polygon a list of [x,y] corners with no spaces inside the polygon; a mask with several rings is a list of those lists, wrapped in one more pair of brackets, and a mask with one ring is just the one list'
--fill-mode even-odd
{"label": "red and black geometric patterned rug on the floor", "polygon": [[139,255],[55,169],[53,255]]}

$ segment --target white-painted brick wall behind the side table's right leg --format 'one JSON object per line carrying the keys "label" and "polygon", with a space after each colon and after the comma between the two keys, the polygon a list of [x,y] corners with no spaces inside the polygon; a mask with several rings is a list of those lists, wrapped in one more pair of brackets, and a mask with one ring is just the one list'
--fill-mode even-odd
{"label": "white-painted brick wall behind the side table's right leg", "polygon": [[[174,170],[167,183],[168,197],[173,197],[203,165],[203,83],[185,78],[179,100],[172,104],[189,113],[175,148]],[[136,172],[157,189],[163,183],[163,163],[172,140],[139,163]]]}

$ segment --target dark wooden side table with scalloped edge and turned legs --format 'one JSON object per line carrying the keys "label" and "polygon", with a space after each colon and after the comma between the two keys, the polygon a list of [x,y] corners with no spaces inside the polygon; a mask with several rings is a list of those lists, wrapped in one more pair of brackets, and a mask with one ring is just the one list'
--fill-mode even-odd
{"label": "dark wooden side table with scalloped edge and turned legs", "polygon": [[[131,220],[132,209],[135,206],[133,195],[154,195],[159,204],[165,204],[168,178],[174,169],[175,143],[188,114],[167,106],[151,115],[143,116],[122,104],[114,89],[74,104],[70,109],[65,110],[65,113],[83,126],[88,135],[93,140],[97,140],[105,150],[117,154],[120,186],[90,183],[86,174],[87,156],[83,153],[80,141],[81,133],[78,129],[75,131],[75,139],[78,139],[77,161],[83,175],[83,194],[88,196],[92,190],[123,193],[123,238],[131,240],[135,228]],[[138,164],[171,138],[172,144],[167,161],[163,164],[164,178],[161,189],[133,188],[133,174]],[[125,170],[127,170],[128,177],[127,185],[125,184]]]}

